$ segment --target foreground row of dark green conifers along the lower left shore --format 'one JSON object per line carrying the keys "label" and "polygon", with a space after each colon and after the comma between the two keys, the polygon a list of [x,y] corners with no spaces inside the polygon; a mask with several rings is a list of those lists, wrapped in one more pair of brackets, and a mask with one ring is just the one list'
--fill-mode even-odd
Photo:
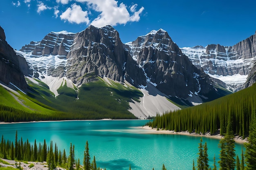
{"label": "foreground row of dark green conifers along the lower left shore", "polygon": [[46,161],[49,170],[54,170],[57,166],[67,170],[100,170],[97,167],[95,156],[92,162],[90,161],[88,141],[85,144],[83,166],[81,166],[79,159],[75,159],[74,149],[75,146],[70,143],[70,152],[67,156],[65,149],[61,152],[61,150],[58,150],[56,143],[53,145],[52,141],[48,147],[45,140],[43,144],[39,143],[38,145],[35,139],[34,145],[31,145],[28,139],[23,142],[21,137],[18,140],[18,132],[16,131],[14,144],[13,141],[6,141],[2,136],[0,157],[18,161]]}

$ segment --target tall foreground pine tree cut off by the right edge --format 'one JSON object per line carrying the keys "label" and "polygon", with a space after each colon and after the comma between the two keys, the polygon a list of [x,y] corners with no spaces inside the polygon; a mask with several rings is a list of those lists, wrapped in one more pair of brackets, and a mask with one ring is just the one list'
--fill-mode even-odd
{"label": "tall foreground pine tree cut off by the right edge", "polygon": [[253,115],[250,125],[248,143],[245,143],[246,170],[256,170],[256,117]]}

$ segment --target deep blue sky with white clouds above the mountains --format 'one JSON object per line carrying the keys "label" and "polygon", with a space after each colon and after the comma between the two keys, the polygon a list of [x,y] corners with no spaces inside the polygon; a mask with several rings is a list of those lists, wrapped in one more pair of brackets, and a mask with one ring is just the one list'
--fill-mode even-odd
{"label": "deep blue sky with white clouds above the mountains", "polygon": [[256,31],[255,0],[1,0],[0,26],[20,49],[51,31],[112,25],[123,43],[166,30],[179,46],[233,46]]}

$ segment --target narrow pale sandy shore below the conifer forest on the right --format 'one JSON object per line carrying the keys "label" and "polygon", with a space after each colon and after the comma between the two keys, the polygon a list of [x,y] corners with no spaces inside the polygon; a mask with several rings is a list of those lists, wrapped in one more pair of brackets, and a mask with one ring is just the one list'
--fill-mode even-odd
{"label": "narrow pale sandy shore below the conifer forest on the right", "polygon": [[[170,134],[170,135],[189,135],[189,136],[202,136],[202,137],[209,137],[209,138],[214,138],[214,139],[221,139],[223,136],[220,135],[220,133],[216,133],[214,135],[211,135],[210,133],[207,133],[205,135],[200,135],[197,133],[189,133],[188,131],[185,132],[175,132],[173,130],[157,130],[156,128],[151,128],[149,126],[142,126],[138,127],[140,129],[144,129],[146,134]],[[243,144],[247,142],[247,139],[242,139],[242,137],[236,136],[234,138],[236,143]]]}

